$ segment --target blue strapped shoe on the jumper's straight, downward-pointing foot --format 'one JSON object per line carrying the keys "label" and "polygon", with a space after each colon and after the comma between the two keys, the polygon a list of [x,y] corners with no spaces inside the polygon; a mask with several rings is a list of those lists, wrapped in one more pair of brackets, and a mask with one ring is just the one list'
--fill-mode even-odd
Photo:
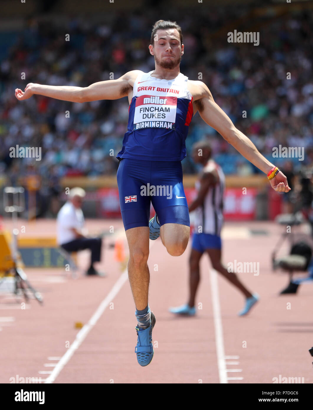
{"label": "blue strapped shoe on the jumper's straight, downward-pointing foot", "polygon": [[155,316],[151,312],[151,323],[146,329],[136,327],[137,331],[137,346],[135,347],[135,353],[137,354],[137,361],[140,366],[147,366],[154,354],[152,344],[152,329],[155,325]]}

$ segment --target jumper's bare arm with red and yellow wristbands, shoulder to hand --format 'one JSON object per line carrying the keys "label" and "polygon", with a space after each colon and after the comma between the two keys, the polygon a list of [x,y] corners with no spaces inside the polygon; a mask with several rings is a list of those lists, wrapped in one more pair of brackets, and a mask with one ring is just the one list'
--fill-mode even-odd
{"label": "jumper's bare arm with red and yellow wristbands, shoulder to hand", "polygon": [[[274,167],[263,155],[256,149],[256,146],[239,131],[232,123],[231,119],[215,103],[212,94],[206,84],[197,81],[202,98],[195,101],[201,118],[212,128],[217,130],[222,137],[231,144],[241,155],[247,158],[252,164],[258,167],[265,174]],[[276,176],[270,180],[272,188],[278,192],[288,192],[286,176],[279,171]]]}

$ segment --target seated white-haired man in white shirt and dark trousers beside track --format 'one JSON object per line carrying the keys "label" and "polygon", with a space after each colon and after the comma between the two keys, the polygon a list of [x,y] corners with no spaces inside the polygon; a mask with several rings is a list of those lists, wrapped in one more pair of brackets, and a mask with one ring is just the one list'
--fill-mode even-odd
{"label": "seated white-haired man in white shirt and dark trousers beside track", "polygon": [[82,188],[73,188],[69,193],[69,200],[57,214],[57,243],[67,252],[77,252],[83,249],[91,250],[91,263],[87,275],[104,276],[94,268],[95,262],[101,259],[101,238],[85,236],[85,219],[81,205],[86,193]]}

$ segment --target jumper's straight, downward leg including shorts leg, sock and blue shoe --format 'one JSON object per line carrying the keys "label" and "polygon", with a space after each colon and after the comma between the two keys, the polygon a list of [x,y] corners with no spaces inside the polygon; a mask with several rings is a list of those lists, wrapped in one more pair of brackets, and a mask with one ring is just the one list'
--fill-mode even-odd
{"label": "jumper's straight, downward leg including shorts leg, sock and blue shoe", "polygon": [[149,180],[151,163],[122,159],[117,170],[119,203],[126,231],[130,257],[128,277],[135,301],[137,346],[135,353],[140,366],[153,358],[152,329],[155,316],[148,304],[149,211],[150,196],[142,195],[142,186]]}

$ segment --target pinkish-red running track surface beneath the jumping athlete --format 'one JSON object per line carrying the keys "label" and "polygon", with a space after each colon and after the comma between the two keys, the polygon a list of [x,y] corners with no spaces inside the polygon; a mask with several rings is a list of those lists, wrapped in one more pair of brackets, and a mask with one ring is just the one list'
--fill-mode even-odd
{"label": "pinkish-red running track surface beneath the jumping athlete", "polygon": [[[109,230],[110,225],[125,238],[121,221],[87,221],[91,231]],[[37,221],[26,232],[47,235],[54,229],[54,221]],[[262,232],[254,235],[251,230]],[[74,280],[62,269],[26,269],[44,305],[31,300],[21,309],[23,299],[16,302],[0,292],[0,382],[18,375],[50,378],[53,383],[273,383],[281,375],[312,383],[308,349],[313,345],[313,285],[302,285],[297,295],[278,296],[288,282],[286,274],[271,271],[270,251],[280,233],[273,223],[226,223],[224,228],[224,264],[259,262],[258,275],[238,273],[260,295],[247,317],[237,316],[244,299],[236,289],[220,276],[216,288],[206,256],[197,295],[202,309],[194,318],[170,314],[169,306],[187,300],[190,243],[182,256],[171,257],[160,239],[151,241],[149,305],[156,317],[155,354],[144,368],[135,355],[135,306],[127,273],[114,260],[113,248],[103,250],[106,278]],[[105,239],[110,241],[113,236]],[[82,266],[87,266],[87,258],[83,252]],[[112,288],[117,292],[111,298]],[[107,307],[90,325],[103,301]],[[75,322],[86,326],[80,331]]]}

